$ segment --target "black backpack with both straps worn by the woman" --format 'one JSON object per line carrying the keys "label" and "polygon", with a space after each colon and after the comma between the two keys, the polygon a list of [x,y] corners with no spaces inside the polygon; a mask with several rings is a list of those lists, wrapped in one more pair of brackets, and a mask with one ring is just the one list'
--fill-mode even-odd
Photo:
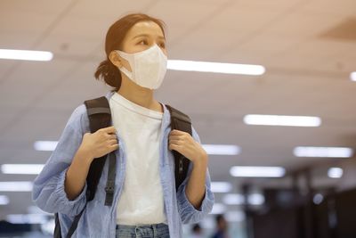
{"label": "black backpack with both straps worn by the woman", "polygon": [[[85,107],[89,118],[91,133],[96,132],[100,128],[110,126],[111,112],[109,108],[108,99],[105,96],[101,96],[91,100],[86,100]],[[190,118],[184,113],[182,113],[181,111],[178,111],[169,105],[166,105],[166,107],[168,108],[171,114],[171,129],[181,130],[191,135]],[[190,160],[185,158],[179,152],[173,151],[173,153],[174,153],[175,189],[178,190],[179,185],[182,185],[182,182],[187,176]],[[107,157],[109,158],[109,168],[108,168],[107,185],[105,187],[105,192],[106,192],[105,206],[112,205],[113,195],[115,190],[115,176],[116,176],[115,151],[110,152],[102,156],[101,158],[97,158],[93,160],[89,168],[88,176],[86,176],[87,189],[86,189],[85,207],[74,218],[72,225],[69,227],[69,232],[66,238],[70,238],[72,234],[74,234],[74,232],[77,229],[78,221],[86,208],[86,203],[88,201],[93,200],[96,192],[96,187],[101,177],[102,168],[104,167],[105,160],[107,159]],[[62,238],[58,213],[55,213],[54,217],[55,217],[55,227],[54,227],[54,234],[53,234],[54,238]]]}

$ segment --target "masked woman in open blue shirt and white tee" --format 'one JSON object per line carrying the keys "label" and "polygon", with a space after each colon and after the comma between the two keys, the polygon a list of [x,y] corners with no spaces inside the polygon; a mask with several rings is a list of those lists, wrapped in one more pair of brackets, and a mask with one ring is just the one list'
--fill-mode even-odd
{"label": "masked woman in open blue shirt and white tee", "polygon": [[[166,74],[163,22],[129,14],[108,30],[107,60],[95,77],[114,90],[106,94],[111,127],[88,133],[85,105],[71,114],[60,141],[36,177],[33,200],[58,212],[65,237],[73,218],[77,237],[182,237],[182,224],[197,223],[214,203],[207,154],[197,132],[171,130],[166,105],[154,99]],[[176,192],[172,151],[190,160],[188,176]],[[95,158],[115,152],[117,176],[113,206],[104,206],[104,166],[93,201],[85,207],[85,178]]]}

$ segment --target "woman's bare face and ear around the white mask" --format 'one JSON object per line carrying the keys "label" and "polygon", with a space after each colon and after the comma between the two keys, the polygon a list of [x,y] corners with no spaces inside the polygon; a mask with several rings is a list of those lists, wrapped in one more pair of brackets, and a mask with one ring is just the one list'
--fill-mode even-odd
{"label": "woman's bare face and ear around the white mask", "polygon": [[[138,53],[147,50],[155,44],[167,55],[166,38],[163,35],[162,29],[153,21],[140,21],[127,31],[121,51],[125,53]],[[121,58],[118,53],[114,57],[110,57],[110,59],[118,67],[124,66],[127,70],[132,71],[130,64]]]}

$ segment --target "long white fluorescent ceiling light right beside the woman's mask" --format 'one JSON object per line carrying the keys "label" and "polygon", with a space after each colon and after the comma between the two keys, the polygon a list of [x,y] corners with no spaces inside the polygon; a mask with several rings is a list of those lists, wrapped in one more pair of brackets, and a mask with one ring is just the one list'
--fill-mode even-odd
{"label": "long white fluorescent ceiling light right beside the woman's mask", "polygon": [[263,75],[266,71],[262,65],[179,60],[168,60],[167,69],[242,75]]}

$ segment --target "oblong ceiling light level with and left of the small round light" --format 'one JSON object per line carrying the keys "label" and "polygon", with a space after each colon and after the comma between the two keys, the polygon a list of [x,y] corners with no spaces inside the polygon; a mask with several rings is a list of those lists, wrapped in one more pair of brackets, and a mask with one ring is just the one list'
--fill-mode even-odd
{"label": "oblong ceiling light level with and left of the small round light", "polygon": [[286,174],[282,167],[233,166],[231,176],[281,177]]}

